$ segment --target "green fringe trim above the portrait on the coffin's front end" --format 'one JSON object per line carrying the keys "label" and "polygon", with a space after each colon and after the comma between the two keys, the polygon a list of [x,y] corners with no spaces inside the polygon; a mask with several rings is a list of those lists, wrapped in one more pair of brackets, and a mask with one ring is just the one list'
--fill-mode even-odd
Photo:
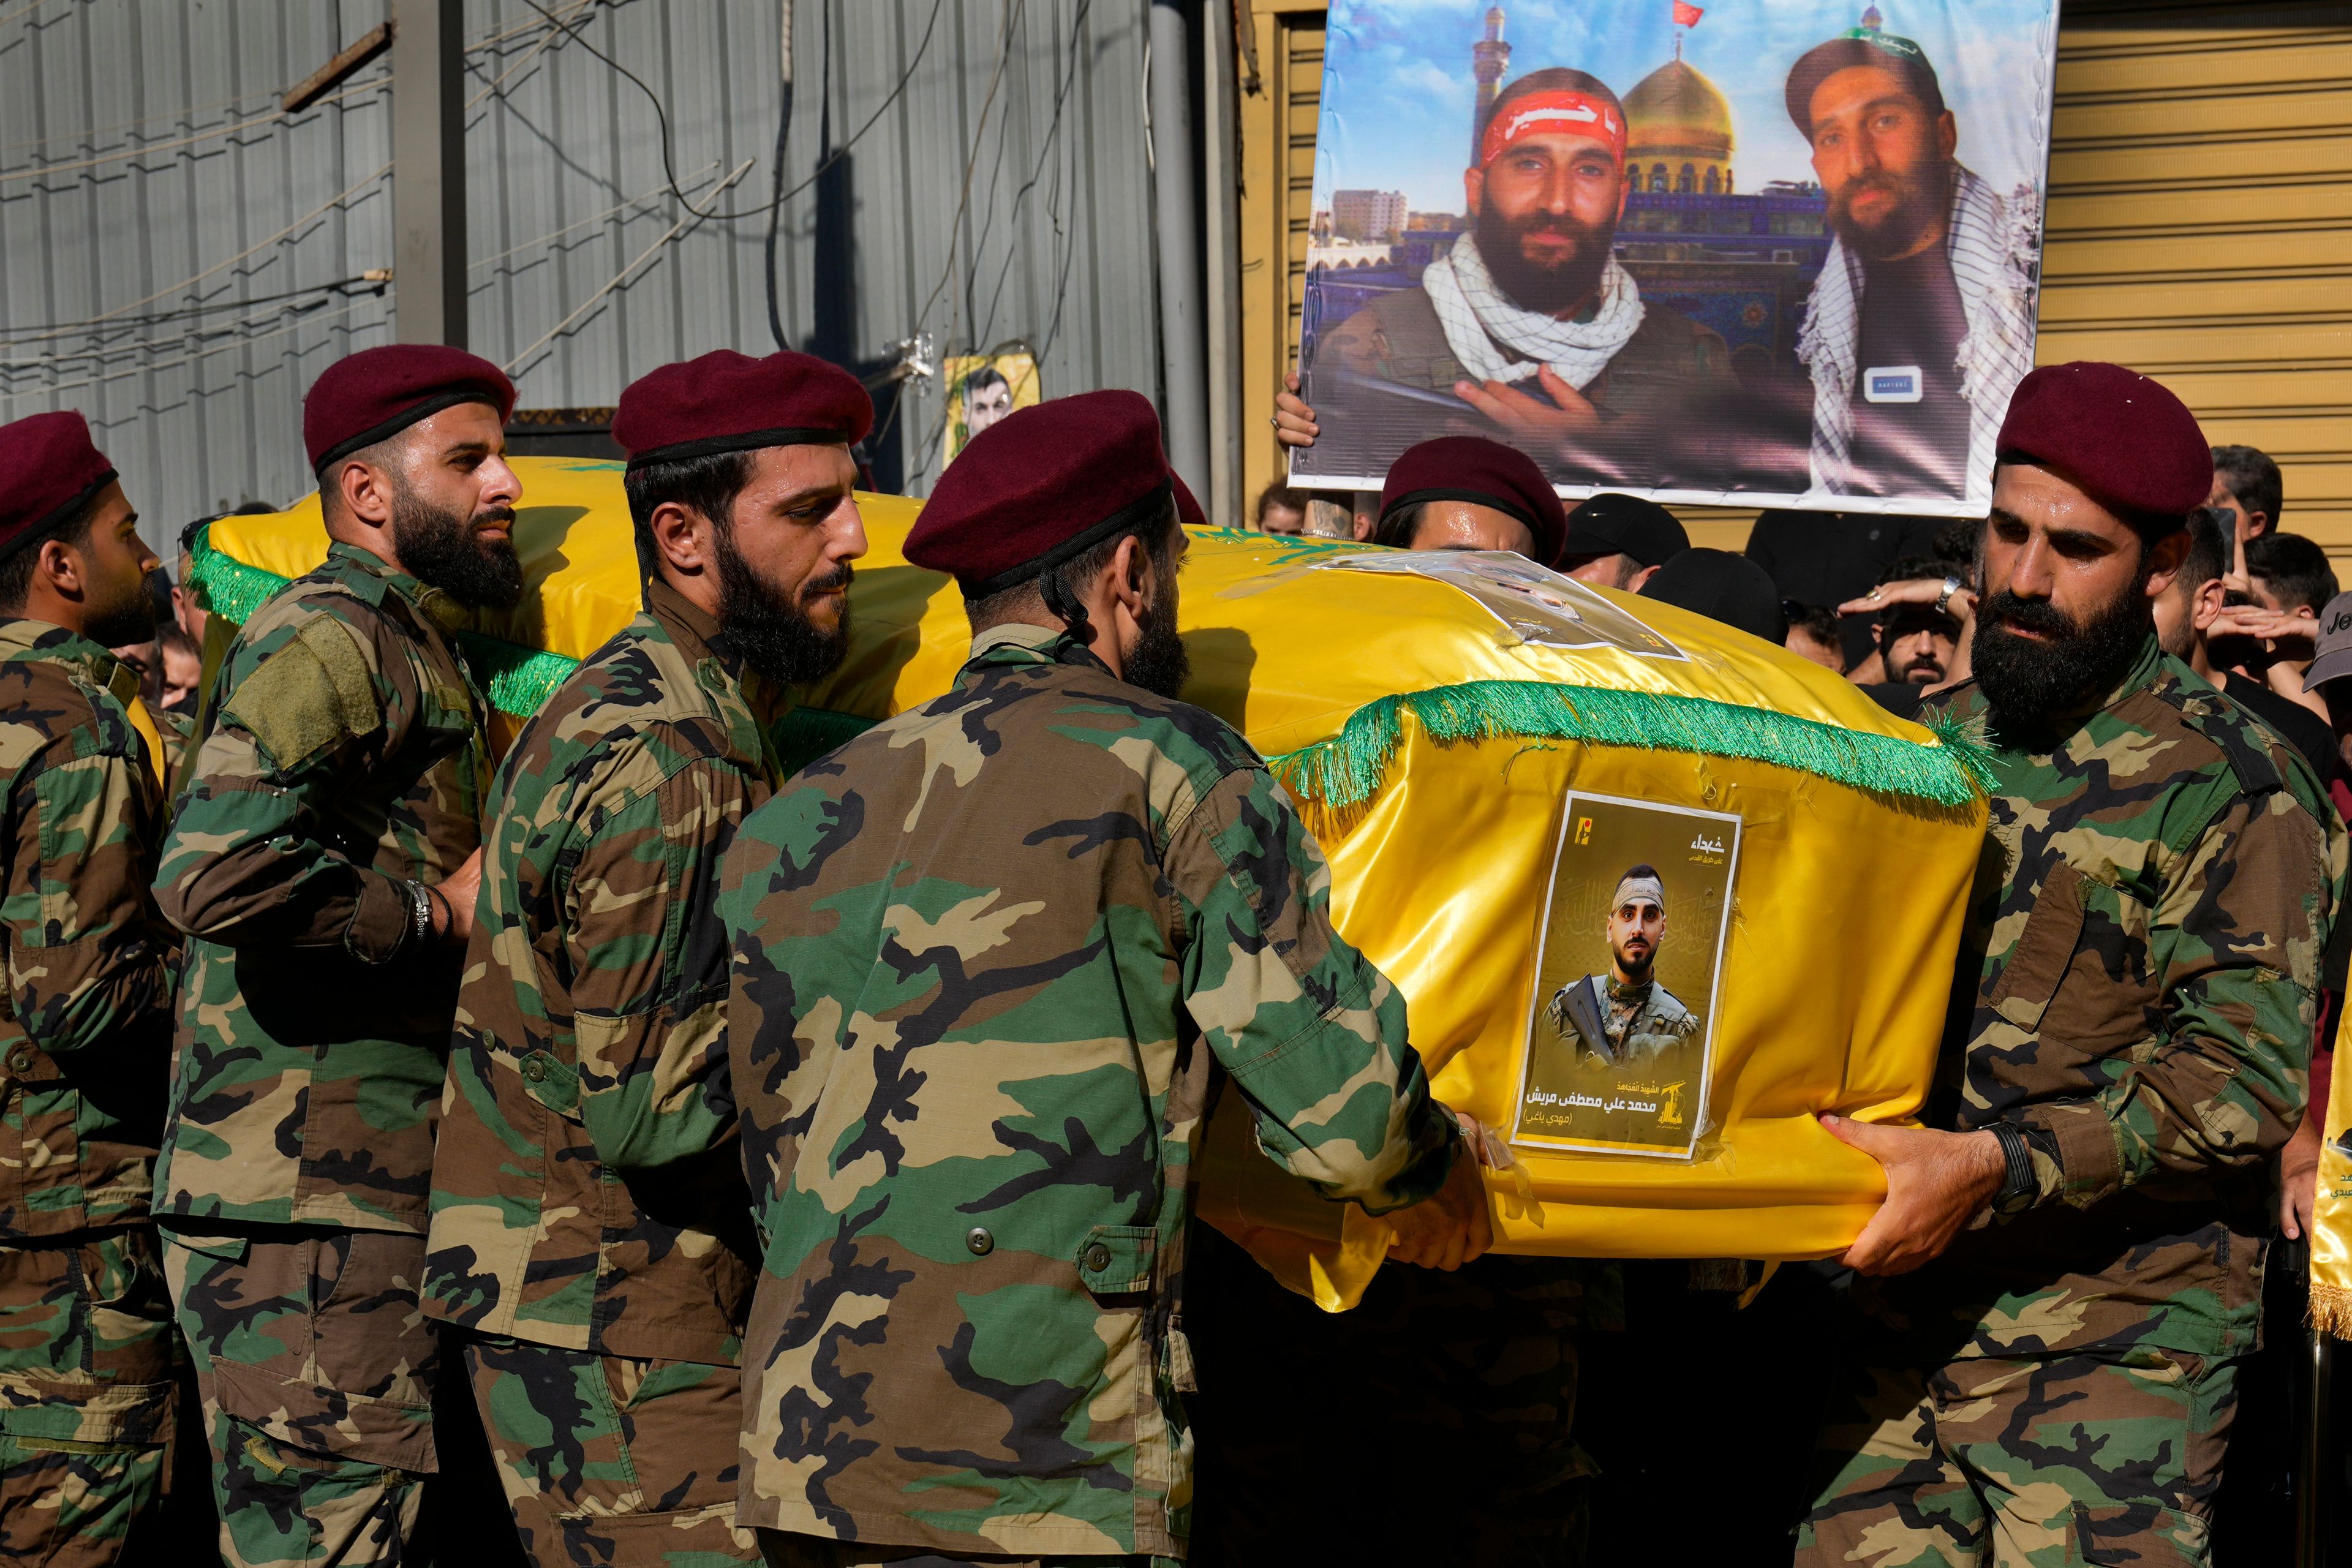
{"label": "green fringe trim above the portrait on the coffin's front end", "polygon": [[1526,736],[1738,757],[1950,809],[1985,792],[1983,755],[1943,736],[1919,745],[1696,696],[1505,679],[1383,696],[1348,715],[1329,741],[1268,757],[1268,766],[1294,795],[1352,811],[1388,780],[1406,712],[1437,745]]}

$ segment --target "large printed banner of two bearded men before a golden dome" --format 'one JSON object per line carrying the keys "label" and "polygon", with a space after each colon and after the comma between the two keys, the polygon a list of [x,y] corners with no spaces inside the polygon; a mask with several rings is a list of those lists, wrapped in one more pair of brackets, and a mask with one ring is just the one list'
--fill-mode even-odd
{"label": "large printed banner of two bearded men before a golden dome", "polygon": [[1334,0],[1298,484],[1980,517],[2034,362],[2056,0]]}

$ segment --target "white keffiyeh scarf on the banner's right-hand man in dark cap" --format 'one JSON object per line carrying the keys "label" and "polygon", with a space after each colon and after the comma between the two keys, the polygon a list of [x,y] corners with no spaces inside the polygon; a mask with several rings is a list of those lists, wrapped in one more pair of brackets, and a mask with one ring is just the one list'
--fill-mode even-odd
{"label": "white keffiyeh scarf on the banner's right-hand man in dark cap", "polygon": [[[2034,256],[2042,202],[2032,186],[2006,200],[1959,169],[1952,226],[1945,240],[1952,282],[1969,317],[1955,369],[1969,400],[1969,503],[1992,505],[1992,447],[2009,414],[2009,395],[2034,367]],[[1813,376],[1813,489],[1853,491],[1853,376],[1863,336],[1863,266],[1844,240],[1804,308],[1797,357]]]}

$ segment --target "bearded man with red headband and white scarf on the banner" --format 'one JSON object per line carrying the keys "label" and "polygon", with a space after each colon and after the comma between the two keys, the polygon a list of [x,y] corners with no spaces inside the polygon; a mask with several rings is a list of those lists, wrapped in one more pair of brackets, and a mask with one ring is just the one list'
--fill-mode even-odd
{"label": "bearded man with red headband and white scarf on the banner", "polygon": [[[1621,477],[1661,416],[1738,388],[1722,336],[1644,301],[1611,254],[1632,190],[1625,108],[1583,71],[1531,71],[1496,94],[1477,153],[1463,172],[1470,233],[1428,266],[1418,289],[1376,299],[1315,348],[1315,402],[1348,414],[1338,461],[1383,470],[1397,425],[1383,428],[1381,414],[1404,409],[1428,423],[1425,404],[1451,397],[1555,480]],[[1414,395],[1423,407],[1411,407]],[[1279,407],[1291,416],[1277,425],[1284,442],[1315,444],[1315,409],[1291,395]]]}

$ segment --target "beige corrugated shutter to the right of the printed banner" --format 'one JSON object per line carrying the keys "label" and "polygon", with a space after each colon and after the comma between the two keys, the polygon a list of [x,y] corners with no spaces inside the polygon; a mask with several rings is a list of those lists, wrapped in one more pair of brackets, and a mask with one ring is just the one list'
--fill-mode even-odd
{"label": "beige corrugated shutter to the right of the printed banner", "polygon": [[2274,456],[2352,581],[2352,9],[2063,7],[2039,360]]}

